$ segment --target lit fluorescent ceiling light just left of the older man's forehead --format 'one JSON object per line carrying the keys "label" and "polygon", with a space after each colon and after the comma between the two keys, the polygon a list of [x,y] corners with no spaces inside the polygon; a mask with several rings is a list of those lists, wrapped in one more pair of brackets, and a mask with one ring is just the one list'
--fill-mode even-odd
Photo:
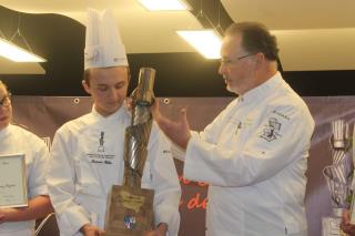
{"label": "lit fluorescent ceiling light just left of the older man's forehead", "polygon": [[222,38],[214,30],[182,30],[176,33],[206,59],[221,58]]}

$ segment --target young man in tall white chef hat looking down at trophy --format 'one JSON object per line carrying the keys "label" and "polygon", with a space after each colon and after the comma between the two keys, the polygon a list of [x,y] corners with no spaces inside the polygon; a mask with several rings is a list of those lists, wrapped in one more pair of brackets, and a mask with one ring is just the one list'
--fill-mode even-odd
{"label": "young man in tall white chef hat looking down at trophy", "polygon": [[[125,50],[112,13],[88,11],[82,82],[93,99],[91,113],[65,123],[54,136],[48,168],[49,194],[63,236],[101,235],[111,186],[122,184],[125,105],[130,80]],[[170,143],[154,123],[142,187],[154,189],[155,230],[178,235],[181,188]]]}

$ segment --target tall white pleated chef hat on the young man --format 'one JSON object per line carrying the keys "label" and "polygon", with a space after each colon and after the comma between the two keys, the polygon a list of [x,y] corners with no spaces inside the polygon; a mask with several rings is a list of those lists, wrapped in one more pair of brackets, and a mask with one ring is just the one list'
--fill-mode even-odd
{"label": "tall white pleated chef hat on the young man", "polygon": [[88,9],[84,70],[119,65],[129,63],[112,12]]}

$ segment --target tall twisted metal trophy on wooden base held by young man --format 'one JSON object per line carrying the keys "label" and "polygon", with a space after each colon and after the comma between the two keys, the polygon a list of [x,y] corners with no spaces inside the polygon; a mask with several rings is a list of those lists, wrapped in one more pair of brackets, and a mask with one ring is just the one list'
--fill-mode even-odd
{"label": "tall twisted metal trophy on wooden base held by young man", "polygon": [[105,236],[141,236],[154,226],[154,191],[141,188],[152,129],[149,107],[154,99],[154,69],[140,69],[139,84],[132,94],[131,125],[125,129],[123,184],[113,185],[109,194]]}

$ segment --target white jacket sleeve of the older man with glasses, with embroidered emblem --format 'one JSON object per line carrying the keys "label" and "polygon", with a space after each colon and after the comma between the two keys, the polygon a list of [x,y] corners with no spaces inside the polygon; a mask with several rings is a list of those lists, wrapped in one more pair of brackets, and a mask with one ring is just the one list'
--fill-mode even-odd
{"label": "white jacket sleeve of the older man with glasses, with embroidered emblem", "polygon": [[252,185],[307,155],[314,130],[312,117],[297,107],[283,106],[278,112],[288,120],[278,122],[274,138],[267,137],[273,114],[265,114],[242,150],[223,148],[193,133],[186,148],[184,177],[216,186]]}

